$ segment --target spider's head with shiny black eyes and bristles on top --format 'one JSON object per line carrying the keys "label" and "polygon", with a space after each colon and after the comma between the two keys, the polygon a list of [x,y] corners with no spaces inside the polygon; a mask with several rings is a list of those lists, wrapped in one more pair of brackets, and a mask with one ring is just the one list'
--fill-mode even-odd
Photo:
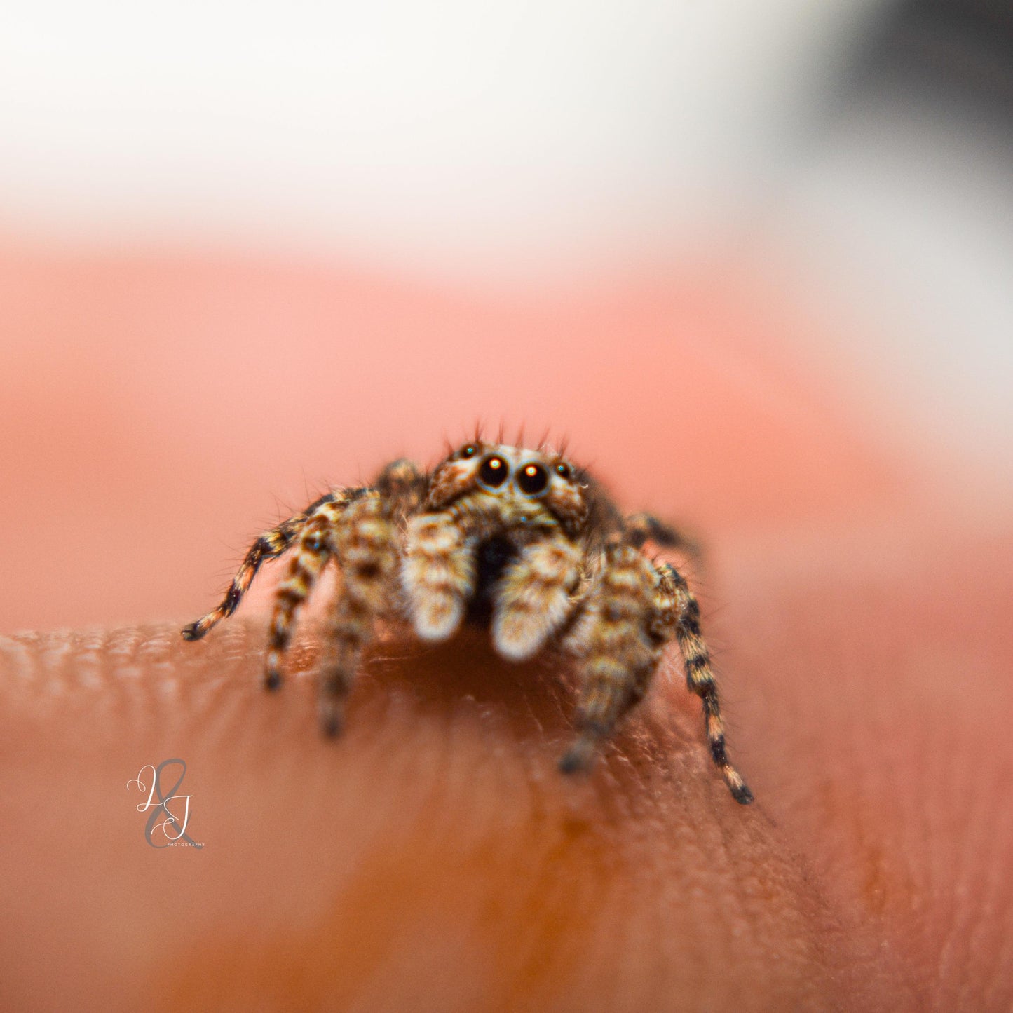
{"label": "spider's head with shiny black eyes and bristles on top", "polygon": [[505,526],[551,519],[575,534],[588,517],[585,487],[561,454],[476,440],[436,469],[426,505],[443,510],[468,497],[476,512],[494,515]]}

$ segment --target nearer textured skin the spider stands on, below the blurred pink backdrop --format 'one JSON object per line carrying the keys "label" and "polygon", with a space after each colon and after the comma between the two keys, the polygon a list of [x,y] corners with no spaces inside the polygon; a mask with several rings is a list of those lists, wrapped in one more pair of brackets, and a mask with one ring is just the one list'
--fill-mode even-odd
{"label": "nearer textured skin the spider stands on, below the blurred pink backdrop", "polygon": [[[939,535],[713,564],[749,807],[675,658],[581,779],[567,663],[481,631],[381,639],[336,743],[312,629],[279,695],[262,615],[5,638],[5,1007],[1007,1008],[1009,542]],[[145,842],[170,757],[202,850]]]}

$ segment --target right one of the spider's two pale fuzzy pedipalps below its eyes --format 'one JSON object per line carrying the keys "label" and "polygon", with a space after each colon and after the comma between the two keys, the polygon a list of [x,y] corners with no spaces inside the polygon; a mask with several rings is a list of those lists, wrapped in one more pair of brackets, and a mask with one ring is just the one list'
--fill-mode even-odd
{"label": "right one of the spider's two pale fuzzy pedipalps below its eyes", "polygon": [[581,549],[561,530],[532,542],[499,581],[492,615],[492,642],[514,661],[536,654],[573,608]]}

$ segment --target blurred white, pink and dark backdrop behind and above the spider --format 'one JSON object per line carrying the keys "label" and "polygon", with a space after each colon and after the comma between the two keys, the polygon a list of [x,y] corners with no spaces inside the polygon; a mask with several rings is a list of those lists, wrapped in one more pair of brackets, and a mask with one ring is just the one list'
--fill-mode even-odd
{"label": "blurred white, pink and dark backdrop behind and above the spider", "polygon": [[1009,8],[4,20],[0,629],[191,618],[480,419],[718,541],[1008,530]]}

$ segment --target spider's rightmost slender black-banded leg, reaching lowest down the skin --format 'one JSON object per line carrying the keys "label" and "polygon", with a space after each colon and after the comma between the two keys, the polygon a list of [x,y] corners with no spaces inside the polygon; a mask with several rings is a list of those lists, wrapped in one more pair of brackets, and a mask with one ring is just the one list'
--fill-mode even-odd
{"label": "spider's rightmost slender black-banded leg, reaching lowest down the skin", "polygon": [[[753,801],[742,775],[728,762],[724,745],[724,722],[717,699],[717,684],[710,666],[710,653],[700,635],[700,606],[686,583],[686,578],[671,563],[661,564],[658,569],[658,595],[668,600],[668,608],[675,609],[675,636],[682,651],[686,667],[686,685],[691,693],[700,697],[703,703],[704,722],[710,755],[724,778],[728,790],[736,802],[748,805]],[[671,616],[671,612],[670,612]],[[671,623],[671,618],[669,619]]]}

